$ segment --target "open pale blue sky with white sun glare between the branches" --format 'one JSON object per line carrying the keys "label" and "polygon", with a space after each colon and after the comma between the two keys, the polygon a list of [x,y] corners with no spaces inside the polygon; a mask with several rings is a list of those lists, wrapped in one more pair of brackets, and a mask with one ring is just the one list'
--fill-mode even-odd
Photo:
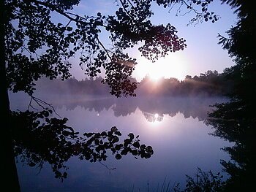
{"label": "open pale blue sky with white sun glare between the branches", "polygon": [[[102,15],[112,15],[116,11],[116,1],[114,0],[82,0],[78,7],[75,7],[73,12],[78,12],[82,15],[96,15],[97,12],[102,12]],[[216,12],[220,18],[216,23],[203,22],[197,25],[192,24],[187,26],[189,20],[194,15],[182,15],[185,12],[180,12],[177,15],[176,10],[178,5],[170,9],[163,8],[157,5],[152,7],[154,16],[151,18],[152,23],[159,25],[170,23],[178,30],[178,37],[186,39],[187,48],[176,53],[169,53],[165,58],[160,58],[154,64],[146,58],[141,57],[138,47],[129,50],[129,55],[137,59],[138,65],[135,66],[135,71],[132,76],[140,81],[148,74],[153,80],[159,77],[175,77],[178,80],[184,80],[186,75],[200,75],[208,70],[217,70],[222,73],[227,67],[233,66],[233,60],[223,50],[221,45],[218,45],[217,35],[225,36],[231,26],[236,24],[236,15],[226,4],[221,4],[220,1],[214,0],[211,6],[208,7],[212,12]],[[108,37],[102,36],[102,41],[108,43]],[[105,39],[104,39],[105,38]],[[74,63],[78,63],[75,61]],[[71,69],[72,75],[78,79],[85,79],[83,70],[78,64],[73,64]]]}

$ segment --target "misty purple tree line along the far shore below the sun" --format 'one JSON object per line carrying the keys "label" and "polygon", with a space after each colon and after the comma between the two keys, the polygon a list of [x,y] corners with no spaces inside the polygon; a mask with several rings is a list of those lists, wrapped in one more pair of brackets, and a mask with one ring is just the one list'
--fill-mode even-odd
{"label": "misty purple tree line along the far shore below the sun", "polygon": [[[187,75],[184,80],[164,78],[151,80],[148,75],[140,82],[131,78],[138,84],[135,91],[137,96],[225,96],[233,88],[233,80],[227,79],[225,71],[219,74],[216,70],[208,70],[200,75]],[[102,83],[102,77],[77,80],[75,77],[67,81],[61,79],[43,79],[37,83],[40,93],[59,94],[86,94],[105,96],[110,95],[108,85]]]}

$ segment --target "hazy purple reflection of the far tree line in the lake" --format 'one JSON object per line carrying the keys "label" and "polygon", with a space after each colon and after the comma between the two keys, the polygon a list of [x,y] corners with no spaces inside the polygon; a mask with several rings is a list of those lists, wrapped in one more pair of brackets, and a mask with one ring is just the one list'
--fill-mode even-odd
{"label": "hazy purple reflection of the far tree line in the lake", "polygon": [[[162,121],[164,115],[174,117],[179,112],[184,118],[198,118],[198,120],[206,120],[207,113],[213,108],[209,105],[216,102],[227,101],[224,97],[135,97],[121,98],[113,97],[88,97],[88,96],[68,96],[68,95],[47,95],[40,96],[44,101],[53,103],[56,109],[65,107],[66,110],[75,110],[76,107],[82,107],[84,110],[97,112],[99,116],[103,110],[113,111],[116,117],[124,117],[132,115],[135,110],[143,112],[144,117],[150,121]],[[14,102],[17,99],[12,99]],[[23,103],[24,104],[24,103]],[[155,115],[157,114],[157,118]]]}

